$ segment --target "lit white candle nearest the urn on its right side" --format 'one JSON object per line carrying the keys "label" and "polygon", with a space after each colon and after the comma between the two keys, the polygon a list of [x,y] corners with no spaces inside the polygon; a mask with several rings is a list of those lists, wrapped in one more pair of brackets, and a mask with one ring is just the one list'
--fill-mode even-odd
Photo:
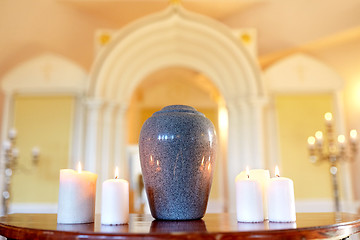
{"label": "lit white candle nearest the urn on its right side", "polygon": [[250,179],[249,174],[247,176],[243,179],[240,175],[235,180],[237,221],[262,222],[264,212],[261,185],[257,180]]}

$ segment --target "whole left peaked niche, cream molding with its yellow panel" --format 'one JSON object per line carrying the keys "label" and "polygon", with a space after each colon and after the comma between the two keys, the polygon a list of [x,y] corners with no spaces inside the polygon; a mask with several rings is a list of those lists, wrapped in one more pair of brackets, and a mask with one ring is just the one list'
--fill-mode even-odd
{"label": "whole left peaked niche, cream molding with its yellow panel", "polygon": [[[6,141],[9,130],[16,129],[12,147],[18,157],[11,167],[1,162],[1,192],[7,188],[11,192],[0,198],[2,212],[9,200],[9,212],[56,212],[58,171],[74,167],[81,159],[86,78],[79,65],[54,53],[35,56],[4,76],[1,140]],[[1,153],[5,156],[3,148]]]}

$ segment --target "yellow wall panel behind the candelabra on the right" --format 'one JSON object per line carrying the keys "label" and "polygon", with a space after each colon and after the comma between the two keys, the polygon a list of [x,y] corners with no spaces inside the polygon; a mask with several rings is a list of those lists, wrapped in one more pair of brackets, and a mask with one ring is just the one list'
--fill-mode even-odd
{"label": "yellow wall panel behind the candelabra on the right", "polygon": [[276,109],[282,176],[294,181],[296,200],[331,199],[329,163],[309,161],[307,138],[325,132],[324,114],[332,112],[331,95],[278,95]]}

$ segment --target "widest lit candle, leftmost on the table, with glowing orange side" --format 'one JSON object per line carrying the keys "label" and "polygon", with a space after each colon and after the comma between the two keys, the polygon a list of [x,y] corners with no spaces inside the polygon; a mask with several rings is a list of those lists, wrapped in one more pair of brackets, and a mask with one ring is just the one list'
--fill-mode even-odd
{"label": "widest lit candle, leftmost on the table, with glowing orange side", "polygon": [[95,216],[97,175],[88,171],[60,170],[57,222],[91,223]]}

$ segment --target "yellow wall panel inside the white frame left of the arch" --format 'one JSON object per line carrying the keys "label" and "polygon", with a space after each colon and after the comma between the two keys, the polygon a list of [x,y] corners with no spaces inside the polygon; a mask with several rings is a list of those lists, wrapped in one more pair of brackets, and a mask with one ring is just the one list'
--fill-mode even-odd
{"label": "yellow wall panel inside the white frame left of the arch", "polygon": [[[12,178],[12,203],[57,203],[59,170],[68,167],[74,98],[15,97],[16,147],[20,151]],[[40,149],[38,164],[31,150]]]}

